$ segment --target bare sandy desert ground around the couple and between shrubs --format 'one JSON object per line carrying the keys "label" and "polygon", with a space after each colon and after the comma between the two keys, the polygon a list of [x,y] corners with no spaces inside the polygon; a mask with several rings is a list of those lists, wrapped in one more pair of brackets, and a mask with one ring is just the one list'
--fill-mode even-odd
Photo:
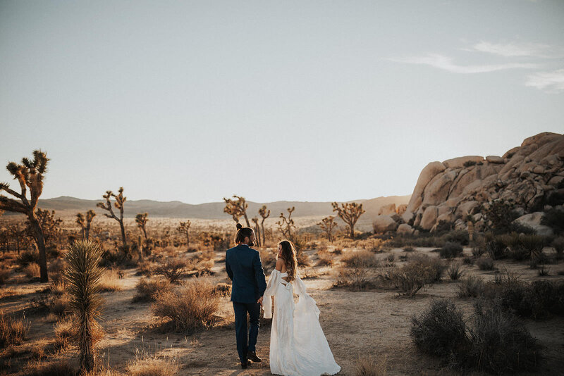
{"label": "bare sandy desert ground around the couple and between shrubs", "polygon": [[[345,252],[353,250],[345,249]],[[429,253],[430,249],[418,249],[418,253]],[[388,253],[396,253],[393,249]],[[312,258],[314,251],[308,251]],[[470,255],[470,250],[465,253]],[[429,253],[436,257],[436,254]],[[384,255],[385,256],[385,255]],[[217,254],[212,277],[214,282],[228,282],[224,272],[221,254]],[[400,264],[400,263],[397,263]],[[564,263],[551,265],[548,277],[539,277],[537,270],[529,269],[526,263],[511,261],[496,262],[497,268],[508,268],[522,275],[522,280],[558,280]],[[334,267],[333,267],[334,268]],[[464,265],[465,273],[482,275],[485,280],[494,278],[494,272],[482,272],[476,265]],[[452,299],[463,309],[465,317],[472,314],[473,299],[457,297],[457,287],[446,276],[443,282],[419,292],[415,298],[398,296],[396,292],[348,292],[332,289],[334,271],[329,267],[315,268],[320,276],[306,279],[309,294],[317,301],[321,310],[320,322],[333,351],[336,362],[341,365],[339,375],[352,375],[355,359],[372,355],[387,358],[388,375],[458,375],[443,369],[435,358],[424,356],[415,349],[409,336],[412,315],[424,310],[434,298]],[[135,359],[139,351],[157,356],[170,357],[180,365],[180,375],[271,375],[269,370],[270,325],[262,320],[259,332],[257,354],[262,363],[253,364],[241,370],[235,349],[233,310],[228,297],[222,298],[218,325],[192,335],[162,332],[161,323],[151,313],[150,303],[132,303],[135,284],[140,279],[137,270],[125,270],[121,283],[123,291],[106,292],[104,321],[106,335],[99,344],[99,353],[105,365],[123,371],[127,363]],[[12,290],[15,296],[0,299],[0,310],[4,313],[23,315],[30,306],[30,299],[38,296],[43,284],[8,284],[3,289]],[[6,295],[6,293],[4,293]],[[16,374],[21,365],[29,360],[32,346],[52,340],[53,323],[45,315],[27,315],[30,332],[24,344],[16,346],[15,353],[4,351],[4,363],[11,364],[8,375]],[[532,335],[544,347],[544,359],[535,375],[558,375],[564,370],[564,318],[546,320],[525,320]],[[74,351],[57,356],[69,358]],[[9,358],[6,358],[9,357]],[[481,375],[473,373],[473,375]],[[522,375],[529,375],[522,373]]]}

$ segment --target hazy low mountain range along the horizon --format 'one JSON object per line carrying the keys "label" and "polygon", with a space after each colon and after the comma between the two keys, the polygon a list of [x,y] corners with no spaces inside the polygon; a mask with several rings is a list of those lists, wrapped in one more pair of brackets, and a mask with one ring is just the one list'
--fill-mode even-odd
{"label": "hazy low mountain range along the horizon", "polygon": [[[378,214],[381,206],[390,203],[400,205],[407,204],[410,196],[388,196],[378,197],[376,199],[368,200],[355,200],[357,203],[362,203],[364,210],[367,211],[363,215],[364,218],[374,217]],[[55,199],[40,199],[39,208],[54,210],[58,215],[75,215],[76,213],[85,212],[94,209],[97,215],[102,215],[104,211],[96,207],[96,203],[102,200],[82,200],[75,197],[61,196]],[[295,206],[293,218],[309,217],[314,215],[334,215],[331,202],[308,202],[308,201],[276,201],[269,203],[257,203],[247,201],[249,208],[247,213],[249,217],[256,215],[262,205],[266,205],[271,211],[271,218],[276,218],[280,213],[287,213],[286,209]],[[164,217],[164,218],[200,218],[200,219],[226,219],[229,215],[223,213],[225,203],[212,202],[200,203],[192,205],[190,203],[183,203],[180,201],[152,201],[152,200],[137,200],[125,201],[125,217],[133,218],[137,213],[149,213],[151,217]],[[5,213],[4,215],[8,215]]]}

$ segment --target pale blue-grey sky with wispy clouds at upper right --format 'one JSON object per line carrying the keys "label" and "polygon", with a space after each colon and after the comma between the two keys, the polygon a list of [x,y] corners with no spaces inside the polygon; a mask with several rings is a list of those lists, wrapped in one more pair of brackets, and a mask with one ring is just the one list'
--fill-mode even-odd
{"label": "pale blue-grey sky with wispy clouds at upper right", "polygon": [[564,133],[563,21],[561,0],[0,0],[0,165],[46,151],[44,199],[411,194],[431,161]]}

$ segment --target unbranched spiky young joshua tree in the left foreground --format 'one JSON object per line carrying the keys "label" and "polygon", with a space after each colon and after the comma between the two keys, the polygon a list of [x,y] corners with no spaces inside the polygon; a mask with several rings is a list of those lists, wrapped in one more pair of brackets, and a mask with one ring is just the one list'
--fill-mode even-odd
{"label": "unbranched spiky young joshua tree in the left foreground", "polygon": [[82,372],[94,369],[95,346],[102,337],[97,322],[102,308],[99,280],[104,269],[98,266],[101,258],[102,250],[89,240],[74,242],[66,253],[68,268],[64,271],[64,277],[71,296],[69,303],[75,313]]}

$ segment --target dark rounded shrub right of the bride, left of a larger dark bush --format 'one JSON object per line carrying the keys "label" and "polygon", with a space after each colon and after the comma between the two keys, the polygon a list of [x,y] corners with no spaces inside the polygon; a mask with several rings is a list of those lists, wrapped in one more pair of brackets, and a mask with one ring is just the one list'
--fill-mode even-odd
{"label": "dark rounded shrub right of the bride, left of a larger dark bush", "polygon": [[411,322],[410,336],[417,349],[424,353],[450,356],[467,343],[462,312],[446,299],[432,301]]}

